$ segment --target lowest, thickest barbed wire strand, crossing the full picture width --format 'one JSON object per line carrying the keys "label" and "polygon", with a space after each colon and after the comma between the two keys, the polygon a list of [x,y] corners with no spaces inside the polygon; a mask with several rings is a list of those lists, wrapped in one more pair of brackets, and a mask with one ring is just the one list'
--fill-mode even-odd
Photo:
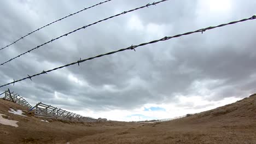
{"label": "lowest, thickest barbed wire strand, crossing the full picture width", "polygon": [[165,41],[165,40],[169,40],[169,39],[172,39],[172,38],[177,38],[177,37],[181,37],[183,35],[189,35],[189,34],[193,34],[193,33],[203,33],[207,30],[210,30],[210,29],[214,29],[214,28],[218,28],[218,27],[223,27],[223,26],[226,26],[226,25],[232,25],[232,24],[235,24],[235,23],[238,23],[238,22],[243,22],[243,21],[248,21],[248,20],[254,20],[256,19],[256,15],[253,15],[252,17],[249,17],[247,19],[242,19],[242,20],[239,20],[239,21],[232,21],[232,22],[229,22],[229,23],[224,23],[224,24],[221,24],[221,25],[218,25],[218,26],[213,26],[213,27],[206,27],[206,28],[201,28],[201,29],[198,29],[196,31],[191,31],[191,32],[187,32],[187,33],[183,33],[183,34],[177,34],[177,35],[174,35],[174,36],[171,36],[171,37],[164,37],[164,38],[161,38],[161,39],[158,39],[158,40],[153,40],[153,41],[149,41],[147,43],[142,43],[142,44],[139,44],[139,45],[131,45],[129,47],[126,47],[125,49],[120,49],[120,50],[117,50],[117,51],[112,51],[112,52],[108,52],[108,53],[104,53],[102,55],[98,55],[98,56],[95,56],[95,57],[90,57],[90,58],[86,58],[86,59],[81,59],[77,62],[73,62],[73,63],[69,63],[69,64],[66,64],[66,65],[62,65],[61,67],[57,67],[57,68],[54,68],[54,69],[50,69],[50,70],[46,70],[46,71],[42,71],[42,73],[38,73],[38,74],[34,74],[34,75],[28,75],[28,77],[25,77],[23,79],[20,79],[20,80],[14,80],[13,82],[10,82],[10,83],[7,83],[5,85],[2,85],[0,87],[4,87],[4,86],[7,86],[7,85],[10,85],[15,82],[19,82],[19,81],[23,81],[23,80],[26,80],[26,79],[30,79],[32,81],[32,77],[34,76],[39,76],[39,75],[42,75],[42,74],[47,74],[51,71],[54,71],[54,70],[57,70],[57,69],[62,69],[62,68],[65,68],[65,67],[68,67],[70,65],[74,65],[74,64],[78,64],[79,66],[79,63],[82,63],[82,62],[85,62],[85,61],[89,61],[91,59],[95,59],[95,58],[98,58],[98,57],[103,57],[103,56],[107,56],[107,55],[112,55],[114,53],[117,53],[117,52],[121,52],[121,51],[125,51],[125,50],[135,50],[135,48],[139,47],[139,46],[144,46],[144,45],[148,45],[148,44],[153,44],[153,43],[158,43],[159,41]]}

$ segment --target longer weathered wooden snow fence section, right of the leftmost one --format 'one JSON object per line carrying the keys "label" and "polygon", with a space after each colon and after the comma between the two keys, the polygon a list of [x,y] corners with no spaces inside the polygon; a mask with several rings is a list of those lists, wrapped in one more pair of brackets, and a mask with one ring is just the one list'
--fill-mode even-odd
{"label": "longer weathered wooden snow fence section, right of the leftmost one", "polygon": [[57,107],[46,105],[41,102],[32,107],[30,111],[32,110],[34,110],[35,117],[56,118],[74,122],[97,122],[98,120],[91,117],[83,117],[81,115],[58,109]]}

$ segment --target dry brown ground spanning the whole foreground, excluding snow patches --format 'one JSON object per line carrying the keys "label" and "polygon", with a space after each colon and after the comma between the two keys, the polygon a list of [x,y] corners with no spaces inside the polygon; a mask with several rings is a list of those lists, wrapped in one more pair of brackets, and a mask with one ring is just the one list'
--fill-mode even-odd
{"label": "dry brown ground spanning the whole foreground, excluding snow patches", "polygon": [[70,123],[8,112],[25,107],[0,99],[0,113],[19,127],[0,124],[0,143],[256,143],[256,95],[168,122]]}

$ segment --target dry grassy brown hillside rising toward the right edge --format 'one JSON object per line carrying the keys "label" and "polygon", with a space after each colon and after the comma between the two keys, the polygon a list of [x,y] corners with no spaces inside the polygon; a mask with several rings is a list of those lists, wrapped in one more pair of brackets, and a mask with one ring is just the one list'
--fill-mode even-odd
{"label": "dry grassy brown hillside rising toward the right edge", "polygon": [[236,103],[168,122],[136,125],[74,143],[256,143],[256,94]]}

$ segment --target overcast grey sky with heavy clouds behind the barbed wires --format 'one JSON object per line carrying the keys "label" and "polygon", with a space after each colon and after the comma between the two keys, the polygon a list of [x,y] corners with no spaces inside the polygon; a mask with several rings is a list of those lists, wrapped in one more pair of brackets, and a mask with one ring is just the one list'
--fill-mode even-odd
{"label": "overcast grey sky with heavy clouds behind the barbed wires", "polygon": [[[0,1],[0,47],[101,1]],[[52,38],[154,1],[113,0],[68,17],[0,51],[0,62]],[[53,41],[0,66],[0,84],[165,36],[255,15],[256,1],[170,0]],[[118,121],[182,116],[255,93],[256,20],[139,47],[0,88]]]}

